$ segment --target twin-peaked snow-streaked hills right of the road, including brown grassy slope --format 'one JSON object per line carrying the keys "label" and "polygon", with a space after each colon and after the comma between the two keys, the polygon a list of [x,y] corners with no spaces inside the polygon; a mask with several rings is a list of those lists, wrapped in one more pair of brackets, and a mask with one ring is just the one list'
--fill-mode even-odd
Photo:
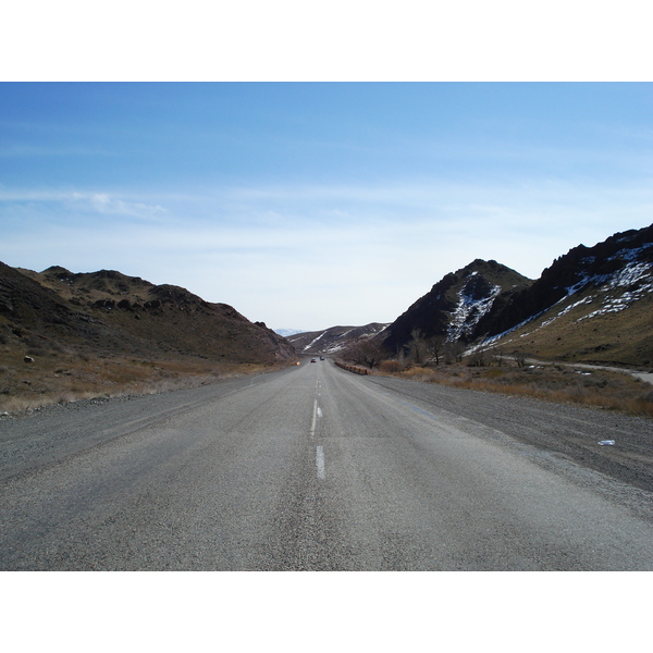
{"label": "twin-peaked snow-streaked hills right of the road, including brown grassy slope", "polygon": [[551,360],[653,366],[653,225],[558,257],[537,281],[496,261],[445,275],[383,334],[503,347]]}

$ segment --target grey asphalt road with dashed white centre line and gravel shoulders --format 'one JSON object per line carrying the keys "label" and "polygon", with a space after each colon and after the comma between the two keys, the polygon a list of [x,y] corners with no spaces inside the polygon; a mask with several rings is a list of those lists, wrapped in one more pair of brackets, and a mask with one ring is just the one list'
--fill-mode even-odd
{"label": "grey asphalt road with dashed white centre line and gravel shoulders", "polygon": [[650,570],[652,443],[330,361],[5,417],[0,569]]}

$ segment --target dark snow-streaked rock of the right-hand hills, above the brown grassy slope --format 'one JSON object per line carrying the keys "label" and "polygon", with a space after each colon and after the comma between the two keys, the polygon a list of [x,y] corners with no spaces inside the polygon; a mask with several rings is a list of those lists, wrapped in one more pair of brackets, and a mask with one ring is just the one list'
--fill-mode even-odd
{"label": "dark snow-streaked rock of the right-hand hills, above the brown grassy slope", "polygon": [[477,259],[443,276],[399,316],[385,331],[383,346],[399,353],[416,333],[472,343],[503,334],[589,287],[616,283],[629,300],[642,298],[651,294],[651,280],[653,225],[617,233],[594,247],[579,245],[534,282],[496,261]]}

